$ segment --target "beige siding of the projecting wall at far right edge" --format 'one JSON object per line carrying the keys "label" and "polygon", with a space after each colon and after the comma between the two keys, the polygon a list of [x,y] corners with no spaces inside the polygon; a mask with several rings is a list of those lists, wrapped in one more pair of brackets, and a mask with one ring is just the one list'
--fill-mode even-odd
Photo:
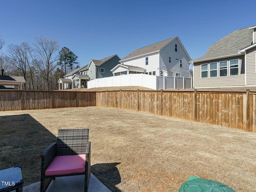
{"label": "beige siding of the projecting wall at far right edge", "polygon": [[256,47],[246,51],[246,85],[256,86],[255,56],[256,56]]}

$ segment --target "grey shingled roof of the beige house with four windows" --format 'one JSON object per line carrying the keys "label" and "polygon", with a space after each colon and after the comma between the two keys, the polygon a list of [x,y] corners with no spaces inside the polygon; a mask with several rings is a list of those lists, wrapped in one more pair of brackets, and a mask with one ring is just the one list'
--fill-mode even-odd
{"label": "grey shingled roof of the beige house with four windows", "polygon": [[249,27],[231,32],[224,38],[212,44],[206,54],[191,62],[202,62],[218,58],[241,55],[238,51],[252,44],[252,30]]}

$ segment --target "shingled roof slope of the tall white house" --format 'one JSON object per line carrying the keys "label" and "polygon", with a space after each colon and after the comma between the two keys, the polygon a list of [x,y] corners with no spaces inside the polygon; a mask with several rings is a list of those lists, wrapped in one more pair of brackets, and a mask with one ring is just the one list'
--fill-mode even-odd
{"label": "shingled roof slope of the tall white house", "polygon": [[[122,60],[126,60],[126,59],[133,58],[136,56],[140,56],[140,55],[144,55],[147,53],[158,51],[158,50],[162,49],[164,46],[166,46],[168,43],[170,43],[172,40],[174,40],[175,38],[176,37],[173,37],[173,38],[166,39],[166,40],[158,42],[158,43],[154,43],[152,45],[148,45],[146,47],[136,49],[134,52],[132,52],[129,55],[122,58]],[[120,60],[120,61],[122,62],[122,60]]]}

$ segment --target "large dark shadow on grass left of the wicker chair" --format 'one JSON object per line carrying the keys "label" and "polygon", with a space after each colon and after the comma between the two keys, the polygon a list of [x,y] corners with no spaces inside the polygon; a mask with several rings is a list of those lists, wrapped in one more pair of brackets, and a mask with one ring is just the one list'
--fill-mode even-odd
{"label": "large dark shadow on grass left of the wicker chair", "polygon": [[56,137],[29,114],[0,116],[0,170],[22,166],[24,185],[40,181],[41,155]]}

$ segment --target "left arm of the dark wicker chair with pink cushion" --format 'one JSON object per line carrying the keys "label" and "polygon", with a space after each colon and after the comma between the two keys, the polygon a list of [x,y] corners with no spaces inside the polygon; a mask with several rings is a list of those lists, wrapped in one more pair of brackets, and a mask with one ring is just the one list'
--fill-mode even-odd
{"label": "left arm of the dark wicker chair with pink cushion", "polygon": [[42,154],[42,174],[46,171],[48,166],[51,164],[52,160],[57,154],[57,143],[51,144]]}

